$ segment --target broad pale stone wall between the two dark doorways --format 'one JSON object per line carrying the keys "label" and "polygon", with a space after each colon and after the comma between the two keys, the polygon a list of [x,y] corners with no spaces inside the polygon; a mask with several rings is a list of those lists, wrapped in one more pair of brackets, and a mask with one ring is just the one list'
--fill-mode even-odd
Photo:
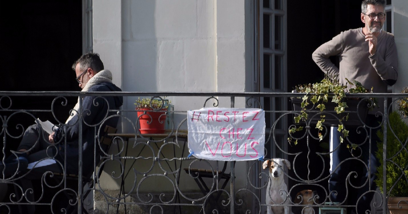
{"label": "broad pale stone wall between the two dark doorways", "polygon": [[[93,1],[93,49],[123,91],[251,91],[252,25],[247,0]],[[134,109],[135,99],[124,97],[122,109]],[[205,101],[169,99],[176,111],[199,109]],[[230,107],[230,99],[219,104]],[[235,100],[235,107],[244,105],[244,98]],[[124,115],[135,121],[136,114]],[[176,124],[184,118],[175,114]],[[131,131],[122,125],[123,132]],[[236,177],[245,179],[245,170]],[[118,189],[111,181],[104,186]]]}

